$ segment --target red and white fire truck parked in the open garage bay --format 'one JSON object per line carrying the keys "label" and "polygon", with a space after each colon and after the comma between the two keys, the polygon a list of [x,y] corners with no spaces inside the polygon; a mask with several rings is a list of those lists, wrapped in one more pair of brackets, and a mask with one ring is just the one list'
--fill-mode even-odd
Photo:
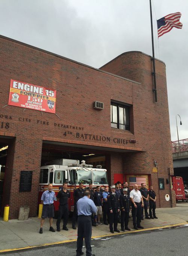
{"label": "red and white fire truck parked in the open garage bay", "polygon": [[[47,166],[41,166],[40,179],[39,179],[39,196],[38,204],[41,203],[42,193],[48,189],[48,184],[53,184],[53,191],[56,193],[63,188],[64,182],[68,183],[67,189],[70,191],[70,199],[68,201],[69,211],[74,210],[74,190],[79,187],[79,183],[83,183],[83,188],[88,189],[89,182],[92,182],[94,190],[96,186],[100,186],[104,189],[108,186],[107,170],[102,169],[102,166],[96,166],[93,168],[91,164],[85,164],[82,160],[82,164],[79,160],[72,159],[58,159],[52,162],[53,164]],[[57,216],[59,202],[54,202],[55,216]]]}

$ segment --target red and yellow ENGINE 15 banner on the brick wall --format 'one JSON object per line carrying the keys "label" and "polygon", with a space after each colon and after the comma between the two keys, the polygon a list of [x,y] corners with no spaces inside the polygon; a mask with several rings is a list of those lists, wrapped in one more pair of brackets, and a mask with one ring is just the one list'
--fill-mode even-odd
{"label": "red and yellow ENGINE 15 banner on the brick wall", "polygon": [[11,79],[8,104],[55,113],[56,90]]}

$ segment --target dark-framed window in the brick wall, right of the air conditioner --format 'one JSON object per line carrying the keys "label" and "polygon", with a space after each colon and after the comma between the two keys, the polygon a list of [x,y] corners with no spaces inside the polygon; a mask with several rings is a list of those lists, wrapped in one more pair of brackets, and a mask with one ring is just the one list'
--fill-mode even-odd
{"label": "dark-framed window in the brick wall, right of the air conditioner", "polygon": [[129,105],[111,102],[111,127],[130,130]]}

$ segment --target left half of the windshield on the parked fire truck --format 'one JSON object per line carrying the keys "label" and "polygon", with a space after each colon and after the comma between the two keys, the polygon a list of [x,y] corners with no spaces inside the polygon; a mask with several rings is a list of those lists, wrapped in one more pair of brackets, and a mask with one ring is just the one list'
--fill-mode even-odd
{"label": "left half of the windshield on the parked fire truck", "polygon": [[83,182],[83,184],[88,184],[89,182],[92,182],[91,170],[79,169],[71,170],[71,172],[71,178],[73,178],[71,180],[76,182],[76,184],[79,184],[80,182]]}

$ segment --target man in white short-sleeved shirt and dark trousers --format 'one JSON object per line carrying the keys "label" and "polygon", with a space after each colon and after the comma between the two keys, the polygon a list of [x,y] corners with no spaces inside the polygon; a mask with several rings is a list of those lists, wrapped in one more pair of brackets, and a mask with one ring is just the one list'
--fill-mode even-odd
{"label": "man in white short-sleeved shirt and dark trousers", "polygon": [[130,201],[132,205],[132,220],[134,229],[144,228],[140,225],[142,208],[144,207],[144,202],[140,191],[138,190],[138,185],[134,185],[134,189],[130,192]]}

